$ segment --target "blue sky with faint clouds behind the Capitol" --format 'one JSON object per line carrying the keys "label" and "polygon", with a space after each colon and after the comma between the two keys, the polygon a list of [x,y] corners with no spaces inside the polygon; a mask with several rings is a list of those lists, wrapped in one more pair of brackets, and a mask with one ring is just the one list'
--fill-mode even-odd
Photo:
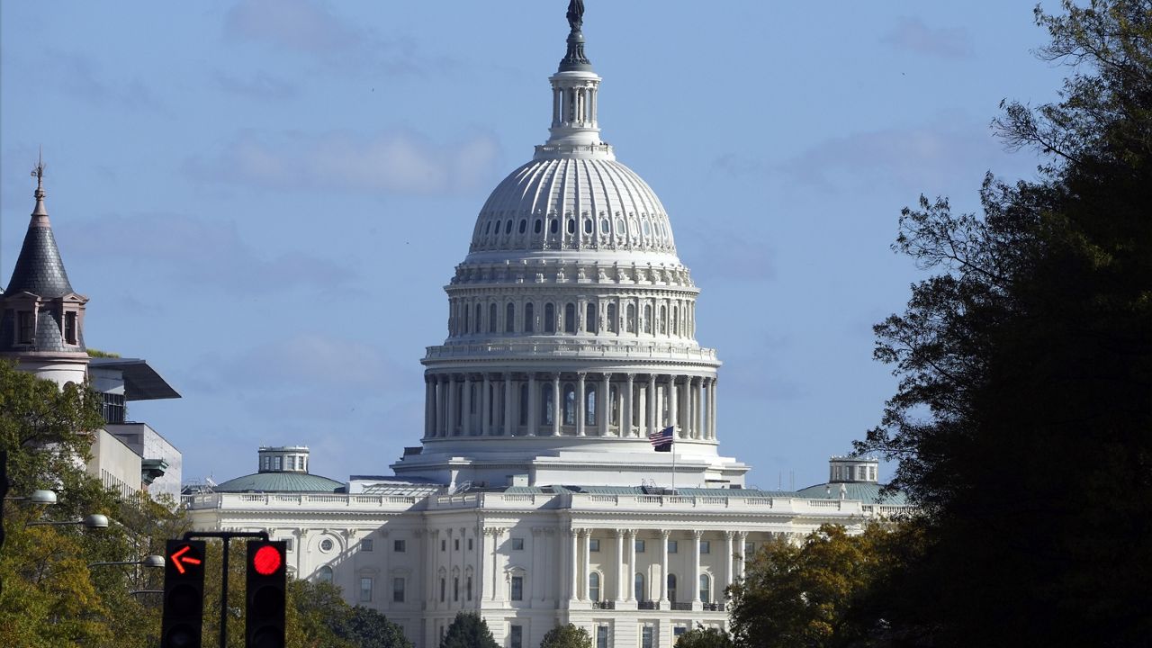
{"label": "blue sky with faint clouds behind the Capitol", "polygon": [[[1034,178],[990,122],[1067,70],[1032,55],[1030,0],[585,5],[602,135],[703,289],[720,450],[761,488],[821,482],[894,390],[871,325],[919,277],[900,209]],[[251,473],[262,444],[387,473],[476,214],[546,138],[566,6],[3,2],[0,284],[43,145],[86,341],[183,394],[130,415],[185,479]]]}

